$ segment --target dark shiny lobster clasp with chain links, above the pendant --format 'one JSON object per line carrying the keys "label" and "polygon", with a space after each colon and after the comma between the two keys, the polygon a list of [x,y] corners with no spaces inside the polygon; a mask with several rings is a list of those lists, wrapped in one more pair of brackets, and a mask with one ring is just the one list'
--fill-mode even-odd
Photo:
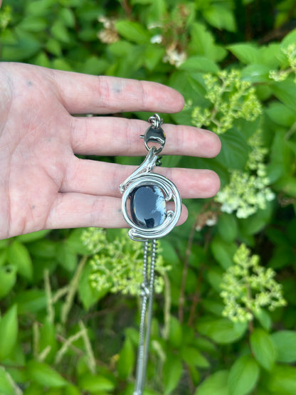
{"label": "dark shiny lobster clasp with chain links, above the pendant", "polygon": [[158,155],[160,152],[162,152],[166,142],[166,135],[161,127],[163,121],[158,114],[154,114],[152,117],[149,117],[148,122],[150,122],[152,126],[150,126],[146,130],[145,134],[141,135],[140,137],[142,139],[144,138],[144,144],[148,151],[152,147],[155,147],[154,144],[157,144],[154,154]]}

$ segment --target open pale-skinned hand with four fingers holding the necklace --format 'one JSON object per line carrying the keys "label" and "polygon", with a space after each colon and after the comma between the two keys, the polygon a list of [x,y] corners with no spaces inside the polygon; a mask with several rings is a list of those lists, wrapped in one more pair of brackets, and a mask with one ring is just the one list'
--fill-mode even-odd
{"label": "open pale-skinned hand with four fingers holding the necklace", "polygon": [[[179,112],[183,97],[158,83],[0,63],[0,238],[46,228],[126,227],[119,185],[135,167],[78,159],[145,155],[149,124],[120,117],[78,117],[125,111]],[[163,154],[214,157],[218,137],[189,126],[163,125]],[[155,170],[183,198],[216,194],[216,173]],[[179,223],[187,217],[183,207]]]}

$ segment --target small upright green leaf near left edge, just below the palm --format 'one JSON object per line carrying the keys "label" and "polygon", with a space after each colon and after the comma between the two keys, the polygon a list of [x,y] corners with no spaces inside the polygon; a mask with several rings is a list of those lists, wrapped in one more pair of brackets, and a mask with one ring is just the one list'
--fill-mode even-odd
{"label": "small upright green leaf near left edge, just below the palm", "polygon": [[18,274],[26,280],[32,280],[33,263],[28,249],[19,241],[14,240],[9,246],[9,263],[16,266]]}

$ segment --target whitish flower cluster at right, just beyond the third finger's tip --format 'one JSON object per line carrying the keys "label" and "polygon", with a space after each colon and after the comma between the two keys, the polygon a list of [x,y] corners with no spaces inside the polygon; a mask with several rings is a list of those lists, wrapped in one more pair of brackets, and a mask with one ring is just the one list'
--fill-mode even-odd
{"label": "whitish flower cluster at right, just beyond the third finger's tip", "polygon": [[228,214],[236,211],[238,218],[248,218],[259,209],[265,209],[267,202],[275,198],[268,186],[270,181],[263,163],[267,150],[262,147],[260,131],[248,143],[251,151],[245,171],[233,170],[229,184],[218,191],[216,196],[221,211]]}

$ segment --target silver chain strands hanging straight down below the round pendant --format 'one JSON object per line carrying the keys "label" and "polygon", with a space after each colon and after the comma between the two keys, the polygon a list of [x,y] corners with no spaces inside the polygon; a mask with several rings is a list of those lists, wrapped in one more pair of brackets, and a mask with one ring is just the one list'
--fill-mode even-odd
{"label": "silver chain strands hanging straight down below the round pendant", "polygon": [[[150,263],[149,263],[150,249]],[[147,370],[149,341],[152,322],[153,296],[154,296],[154,271],[157,255],[157,240],[144,241],[143,282],[141,284],[141,322],[139,325],[139,348],[137,356],[137,374],[133,395],[142,395]],[[148,267],[150,273],[148,278]],[[147,312],[148,302],[148,312]]]}

